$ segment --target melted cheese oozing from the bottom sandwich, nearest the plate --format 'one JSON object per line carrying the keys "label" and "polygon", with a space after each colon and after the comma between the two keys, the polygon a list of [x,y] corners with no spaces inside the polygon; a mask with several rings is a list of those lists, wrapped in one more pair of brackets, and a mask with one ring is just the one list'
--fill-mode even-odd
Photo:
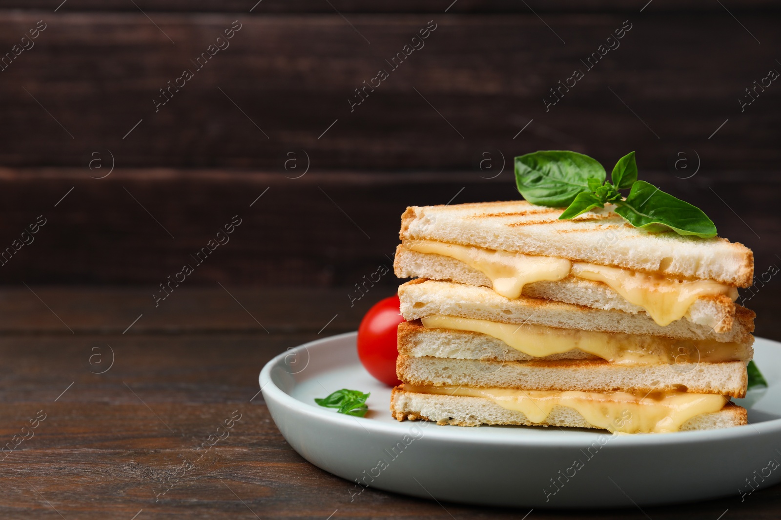
{"label": "melted cheese oozing from the bottom sandwich, nearest the plate", "polygon": [[556,406],[573,409],[590,425],[622,433],[678,431],[704,413],[719,412],[729,398],[716,394],[670,391],[639,396],[627,392],[525,391],[508,388],[455,386],[415,387],[405,391],[487,398],[502,408],[521,412],[531,423],[542,423]]}

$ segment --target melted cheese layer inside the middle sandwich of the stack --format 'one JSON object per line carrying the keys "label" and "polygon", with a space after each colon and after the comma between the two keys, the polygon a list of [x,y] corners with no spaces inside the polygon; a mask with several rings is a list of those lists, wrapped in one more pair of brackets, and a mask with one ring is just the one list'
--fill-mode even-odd
{"label": "melted cheese layer inside the middle sandwich of the stack", "polygon": [[661,336],[581,331],[533,324],[429,316],[423,327],[487,334],[528,356],[544,357],[579,348],[619,365],[722,363],[751,358],[748,345],[715,340],[676,340]]}

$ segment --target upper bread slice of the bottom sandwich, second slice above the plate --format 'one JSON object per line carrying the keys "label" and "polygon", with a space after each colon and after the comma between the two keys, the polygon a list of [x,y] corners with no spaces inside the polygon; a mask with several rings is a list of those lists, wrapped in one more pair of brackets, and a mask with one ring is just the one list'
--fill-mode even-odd
{"label": "upper bread slice of the bottom sandwich, second slice above the plate", "polygon": [[415,386],[463,384],[478,388],[584,392],[688,391],[746,395],[748,376],[740,361],[622,366],[603,359],[495,362],[399,355],[396,374]]}

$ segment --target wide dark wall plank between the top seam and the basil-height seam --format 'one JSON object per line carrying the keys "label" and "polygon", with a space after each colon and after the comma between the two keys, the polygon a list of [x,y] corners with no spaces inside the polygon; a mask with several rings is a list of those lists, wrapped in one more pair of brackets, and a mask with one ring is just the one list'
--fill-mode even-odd
{"label": "wide dark wall plank between the top seam and the basil-height seam", "polygon": [[[769,169],[781,158],[775,86],[743,112],[738,102],[781,66],[773,13],[742,14],[745,30],[723,9],[550,13],[545,23],[530,12],[355,13],[353,27],[336,12],[159,12],[152,23],[133,11],[4,11],[2,48],[41,17],[35,47],[0,73],[0,164],[87,166],[106,150],[123,167],[266,169],[294,149],[324,169],[463,170],[495,149],[573,149],[606,163],[637,150],[655,169],[681,147],[709,169]],[[197,69],[191,60],[235,19],[230,47]],[[393,69],[386,60],[430,19],[425,47]],[[581,60],[626,19],[620,47],[588,70]],[[159,89],[184,69],[194,77],[155,111]],[[380,69],[387,80],[352,110],[355,89]],[[586,76],[546,110],[573,69]]]}

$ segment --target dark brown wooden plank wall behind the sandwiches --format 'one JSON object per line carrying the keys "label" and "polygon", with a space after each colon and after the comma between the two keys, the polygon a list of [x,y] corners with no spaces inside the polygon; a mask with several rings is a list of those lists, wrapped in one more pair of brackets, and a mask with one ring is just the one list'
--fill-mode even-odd
{"label": "dark brown wooden plank wall behind the sandwiches", "polygon": [[188,283],[351,285],[405,206],[514,198],[539,149],[637,150],[758,273],[781,262],[781,85],[745,91],[781,71],[774,2],[331,4],[0,1],[0,57],[28,47],[0,71],[0,249],[47,219],[0,283],[157,285],[239,214]]}

